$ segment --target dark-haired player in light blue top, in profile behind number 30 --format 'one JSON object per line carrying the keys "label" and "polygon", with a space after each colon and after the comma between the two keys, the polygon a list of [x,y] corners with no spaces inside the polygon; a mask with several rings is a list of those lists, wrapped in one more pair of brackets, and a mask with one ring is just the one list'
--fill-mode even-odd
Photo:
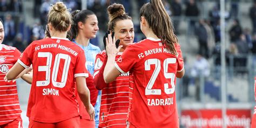
{"label": "dark-haired player in light blue top, in profile behind number 30", "polygon": [[[98,19],[96,15],[90,10],[76,10],[72,13],[73,21],[75,22],[71,28],[71,41],[80,46],[84,50],[86,57],[86,68],[89,71],[89,77],[86,78],[86,84],[90,90],[90,98],[93,106],[96,104],[98,90],[95,88],[93,83],[93,77],[91,74],[94,73],[94,63],[97,53],[100,52],[98,46],[95,46],[90,43],[91,38],[96,37],[96,33],[99,30],[98,28]],[[88,83],[90,82],[90,83]],[[80,100],[78,100],[80,101]],[[99,107],[96,108],[96,119],[90,120],[90,116],[85,112],[84,105],[82,102],[80,103],[80,112],[82,114],[81,119],[81,127],[95,127],[95,121],[99,121],[97,118],[97,111],[99,111]]]}

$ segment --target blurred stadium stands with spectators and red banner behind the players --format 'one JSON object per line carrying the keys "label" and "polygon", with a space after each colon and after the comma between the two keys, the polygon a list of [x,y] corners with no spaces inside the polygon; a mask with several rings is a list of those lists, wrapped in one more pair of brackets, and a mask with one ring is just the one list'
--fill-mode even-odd
{"label": "blurred stadium stands with spectators and red banner behind the players", "polygon": [[[214,0],[169,0],[165,8],[170,14],[185,58],[185,76],[176,85],[181,127],[222,127],[220,82],[220,4]],[[46,15],[57,0],[0,0],[0,17],[4,21],[4,44],[23,51],[33,40],[44,37]],[[81,9],[81,0],[63,0],[72,10]],[[139,8],[147,0],[87,0],[87,9],[98,17],[99,32],[91,43],[103,50],[106,31],[106,7],[122,3],[132,17],[134,42],[145,38],[139,30]],[[228,127],[250,127],[254,108],[254,76],[256,62],[256,12],[253,0],[225,1],[226,90]],[[239,25],[234,24],[238,19]],[[205,22],[203,22],[205,21]],[[253,27],[254,24],[254,27]],[[254,29],[253,29],[254,28]],[[235,35],[231,36],[232,33]],[[200,42],[199,42],[200,39]],[[207,48],[199,48],[199,44]],[[202,49],[206,49],[205,51]],[[17,80],[23,110],[23,126],[30,85]],[[198,89],[197,89],[198,86]]]}

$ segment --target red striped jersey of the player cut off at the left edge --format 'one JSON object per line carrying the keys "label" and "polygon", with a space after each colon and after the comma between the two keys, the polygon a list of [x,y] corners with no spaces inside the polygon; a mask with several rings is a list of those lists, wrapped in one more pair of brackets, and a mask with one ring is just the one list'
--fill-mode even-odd
{"label": "red striped jersey of the player cut off at the left edge", "polygon": [[0,125],[12,122],[21,115],[16,82],[5,82],[4,77],[17,62],[21,52],[0,44]]}

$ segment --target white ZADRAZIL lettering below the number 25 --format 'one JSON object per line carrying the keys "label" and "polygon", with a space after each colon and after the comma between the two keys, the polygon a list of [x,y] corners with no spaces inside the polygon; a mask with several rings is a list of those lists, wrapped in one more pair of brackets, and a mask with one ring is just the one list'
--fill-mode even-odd
{"label": "white ZADRAZIL lettering below the number 25", "polygon": [[172,104],[173,104],[173,97],[165,98],[165,99],[147,99],[147,105],[149,106],[165,106],[165,105],[172,105]]}

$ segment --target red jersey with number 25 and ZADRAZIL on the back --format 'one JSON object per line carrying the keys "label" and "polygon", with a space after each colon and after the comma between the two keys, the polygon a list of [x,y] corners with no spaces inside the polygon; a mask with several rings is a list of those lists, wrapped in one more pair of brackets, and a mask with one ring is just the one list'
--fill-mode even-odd
{"label": "red jersey with number 25 and ZADRAZIL on the back", "polygon": [[176,105],[176,72],[183,70],[180,45],[178,56],[161,43],[147,38],[126,48],[116,68],[130,71],[134,87],[127,120],[135,127],[179,127]]}

